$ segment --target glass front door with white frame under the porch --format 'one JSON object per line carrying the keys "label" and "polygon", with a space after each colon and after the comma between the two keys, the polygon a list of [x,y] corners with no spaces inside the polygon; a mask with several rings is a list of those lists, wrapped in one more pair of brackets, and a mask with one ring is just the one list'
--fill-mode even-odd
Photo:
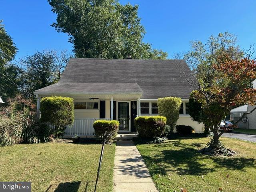
{"label": "glass front door with white frame under the porch", "polygon": [[117,102],[117,120],[119,131],[130,131],[130,102]]}

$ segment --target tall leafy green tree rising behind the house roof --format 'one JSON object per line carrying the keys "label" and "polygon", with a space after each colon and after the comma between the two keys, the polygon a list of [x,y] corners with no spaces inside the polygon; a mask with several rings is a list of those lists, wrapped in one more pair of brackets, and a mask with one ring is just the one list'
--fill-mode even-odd
{"label": "tall leafy green tree rising behind the house roof", "polygon": [[57,14],[52,26],[70,36],[77,58],[162,59],[166,52],[142,42],[138,6],[118,0],[48,0]]}

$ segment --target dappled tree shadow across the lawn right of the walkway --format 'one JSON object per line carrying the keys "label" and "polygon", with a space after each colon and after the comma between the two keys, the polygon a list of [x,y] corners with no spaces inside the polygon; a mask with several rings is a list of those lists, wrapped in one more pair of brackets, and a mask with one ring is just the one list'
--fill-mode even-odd
{"label": "dappled tree shadow across the lawn right of the walkway", "polygon": [[[153,157],[143,156],[148,166],[151,167],[151,174],[166,175],[167,171],[175,171],[177,174],[204,175],[222,167],[229,170],[256,167],[256,159],[254,158],[206,156],[193,148],[196,146],[195,144],[184,144],[180,140],[168,141],[154,146],[168,147],[168,150],[157,150],[158,154]],[[172,146],[176,148],[172,149]]]}

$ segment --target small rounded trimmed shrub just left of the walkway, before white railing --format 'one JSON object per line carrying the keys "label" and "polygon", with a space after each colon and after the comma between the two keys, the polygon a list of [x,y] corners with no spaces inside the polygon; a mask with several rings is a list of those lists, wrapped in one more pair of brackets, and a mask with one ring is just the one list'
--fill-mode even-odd
{"label": "small rounded trimmed shrub just left of the walkway, before white railing", "polygon": [[93,128],[96,137],[100,137],[105,142],[112,142],[119,128],[119,121],[116,120],[96,120],[93,123]]}

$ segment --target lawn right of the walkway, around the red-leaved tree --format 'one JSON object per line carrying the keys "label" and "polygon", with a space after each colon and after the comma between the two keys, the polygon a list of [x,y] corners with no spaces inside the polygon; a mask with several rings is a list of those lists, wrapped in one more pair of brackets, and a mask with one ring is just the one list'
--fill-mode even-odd
{"label": "lawn right of the walkway, around the red-leaved tree", "polygon": [[198,153],[209,138],[184,138],[161,144],[138,144],[160,192],[256,191],[256,143],[221,138],[237,154],[232,157]]}

